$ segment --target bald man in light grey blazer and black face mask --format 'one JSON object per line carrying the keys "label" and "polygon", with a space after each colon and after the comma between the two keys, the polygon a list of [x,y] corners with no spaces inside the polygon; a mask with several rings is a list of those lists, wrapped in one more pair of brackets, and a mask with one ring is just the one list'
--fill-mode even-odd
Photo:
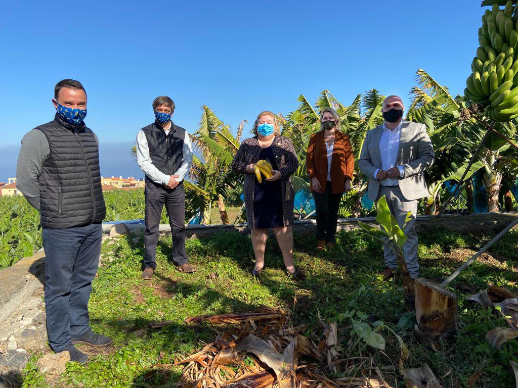
{"label": "bald man in light grey blazer and black face mask", "polygon": [[[410,276],[419,276],[418,236],[415,216],[420,198],[428,195],[424,171],[434,162],[434,147],[424,124],[403,120],[405,107],[398,96],[383,101],[385,123],[367,132],[358,166],[369,178],[367,195],[371,201],[385,196],[391,213],[402,228],[408,211],[412,219],[404,228],[408,237],[403,246]],[[397,268],[395,253],[385,244],[385,280]]]}

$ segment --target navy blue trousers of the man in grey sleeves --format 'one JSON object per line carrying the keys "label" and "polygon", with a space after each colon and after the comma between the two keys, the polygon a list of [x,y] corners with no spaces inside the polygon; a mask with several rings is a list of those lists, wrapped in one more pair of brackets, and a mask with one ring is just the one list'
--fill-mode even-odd
{"label": "navy blue trousers of the man in grey sleeves", "polygon": [[55,352],[90,329],[88,301],[99,264],[100,224],[43,229],[45,248],[45,312],[49,344]]}

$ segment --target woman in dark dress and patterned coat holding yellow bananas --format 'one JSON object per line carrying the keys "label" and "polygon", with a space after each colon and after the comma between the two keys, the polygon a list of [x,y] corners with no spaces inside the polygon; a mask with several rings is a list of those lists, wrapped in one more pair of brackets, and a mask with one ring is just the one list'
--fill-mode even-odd
{"label": "woman in dark dress and patterned coat holding yellow bananas", "polygon": [[293,187],[290,176],[298,166],[290,139],[280,135],[275,115],[261,112],[252,128],[253,138],[239,146],[232,168],[245,174],[243,194],[255,254],[254,276],[264,268],[268,229],[272,228],[282,251],[286,271],[296,278],[293,265]]}

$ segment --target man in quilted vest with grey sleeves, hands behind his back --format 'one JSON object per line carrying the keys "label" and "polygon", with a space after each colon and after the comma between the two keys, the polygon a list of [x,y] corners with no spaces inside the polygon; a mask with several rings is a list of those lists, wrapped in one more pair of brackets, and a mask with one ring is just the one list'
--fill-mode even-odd
{"label": "man in quilted vest with grey sleeves, hands behind his back", "polygon": [[52,103],[54,120],[23,137],[17,188],[40,213],[50,347],[56,353],[68,351],[71,361],[84,363],[88,356],[73,344],[111,343],[111,338],[90,329],[88,315],[106,213],[98,140],[83,122],[87,94],[80,82],[58,82]]}

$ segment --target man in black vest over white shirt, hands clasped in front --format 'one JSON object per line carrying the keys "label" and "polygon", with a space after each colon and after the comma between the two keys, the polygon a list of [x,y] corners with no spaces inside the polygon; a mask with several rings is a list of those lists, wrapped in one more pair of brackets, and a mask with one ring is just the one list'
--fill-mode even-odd
{"label": "man in black vest over white shirt, hands clasped in front", "polygon": [[178,270],[193,273],[185,252],[185,191],[183,178],[191,169],[189,133],[171,121],[175,103],[167,96],[153,101],[155,121],[138,131],[137,163],[146,174],[146,256],[142,278],[151,280],[162,209],[166,206],[172,234],[172,260]]}

